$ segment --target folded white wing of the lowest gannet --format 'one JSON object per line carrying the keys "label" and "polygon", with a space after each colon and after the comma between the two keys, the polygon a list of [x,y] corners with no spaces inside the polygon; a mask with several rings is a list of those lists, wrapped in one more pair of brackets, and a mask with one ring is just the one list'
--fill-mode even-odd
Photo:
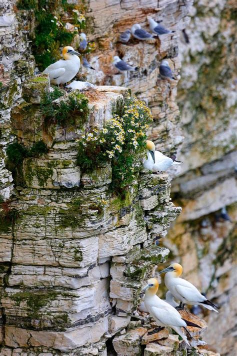
{"label": "folded white wing of the lowest gannet", "polygon": [[160,307],[152,306],[150,310],[152,315],[164,325],[186,326],[185,321],[181,319],[178,311],[172,306],[170,307],[169,304],[167,304],[167,306],[162,305]]}

